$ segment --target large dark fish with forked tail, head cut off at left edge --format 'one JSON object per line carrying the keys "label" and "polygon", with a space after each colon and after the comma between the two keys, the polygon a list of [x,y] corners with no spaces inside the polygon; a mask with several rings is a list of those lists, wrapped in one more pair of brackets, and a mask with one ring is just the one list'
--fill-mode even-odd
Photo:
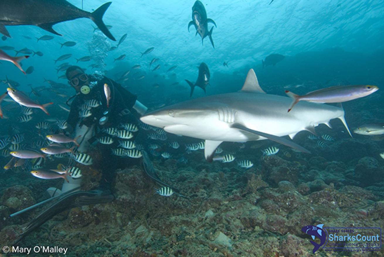
{"label": "large dark fish with forked tail, head cut off at left edge", "polygon": [[61,36],[53,30],[53,25],[78,18],[89,18],[104,35],[116,41],[103,22],[103,15],[111,3],[104,3],[90,13],[77,8],[66,0],[2,0],[0,1],[0,33],[10,38],[5,26],[34,25]]}

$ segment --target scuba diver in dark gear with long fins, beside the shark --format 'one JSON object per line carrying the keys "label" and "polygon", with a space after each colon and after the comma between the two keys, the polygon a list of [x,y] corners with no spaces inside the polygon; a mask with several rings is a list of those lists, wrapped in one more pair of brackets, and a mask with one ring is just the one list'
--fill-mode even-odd
{"label": "scuba diver in dark gear with long fins, beside the shark", "polygon": [[[76,141],[79,144],[77,151],[80,153],[87,152],[96,139],[106,135],[104,133],[104,128],[119,127],[121,123],[137,123],[138,118],[147,110],[147,107],[137,101],[137,96],[108,77],[96,80],[94,77],[85,74],[83,69],[78,66],[70,66],[66,71],[66,77],[68,83],[76,90],[76,95],[70,98],[74,99],[71,103],[70,114],[67,119],[69,125],[68,132],[74,132],[75,137],[78,137],[76,138]],[[108,85],[110,91],[108,100],[106,94],[104,94],[104,84]],[[68,101],[70,99],[68,99]],[[79,117],[81,116],[79,110],[82,105],[88,101],[92,101],[91,105],[94,106],[90,110],[91,114],[86,115],[88,117]],[[11,215],[11,217],[13,217],[28,211],[29,209],[35,208],[40,204],[51,201],[52,199],[58,199],[56,203],[52,204],[45,211],[33,218],[28,225],[23,228],[23,233],[19,235],[14,244],[20,242],[25,236],[62,211],[89,204],[109,203],[115,199],[112,191],[112,184],[118,165],[124,164],[127,166],[127,161],[137,162],[138,159],[122,159],[121,157],[113,155],[111,153],[111,148],[116,148],[117,142],[114,142],[111,145],[99,143],[97,147],[97,152],[101,153],[102,156],[102,160],[99,162],[101,165],[99,168],[102,170],[102,177],[98,189],[92,191],[80,191],[81,177],[72,178],[70,176],[68,176],[69,183],[64,182],[61,190],[57,188],[48,188],[47,192],[50,194],[51,198]],[[154,174],[155,171],[147,153],[142,151],[142,154],[143,158],[141,158],[141,165],[143,170],[147,175],[153,178],[154,181],[160,181],[157,175]],[[72,158],[69,165],[71,164],[71,161],[73,161]]]}

